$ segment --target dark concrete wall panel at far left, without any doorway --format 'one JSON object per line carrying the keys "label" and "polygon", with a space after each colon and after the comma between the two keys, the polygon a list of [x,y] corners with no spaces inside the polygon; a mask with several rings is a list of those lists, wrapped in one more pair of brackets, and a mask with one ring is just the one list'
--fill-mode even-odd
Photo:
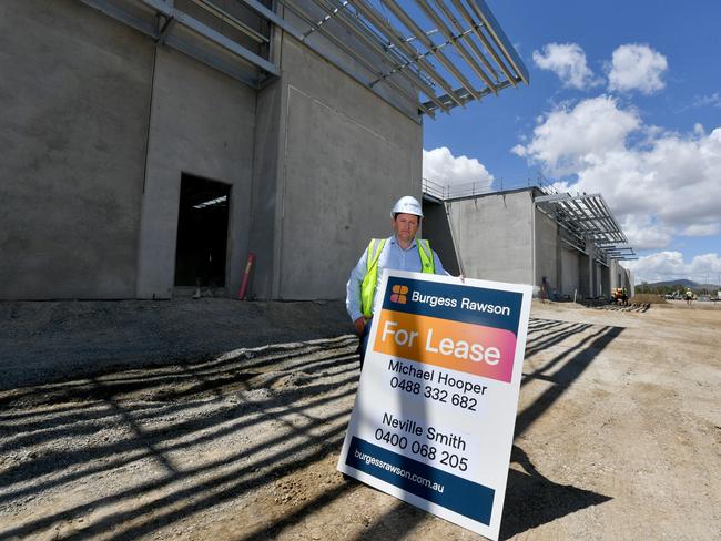
{"label": "dark concrete wall panel at far left, without any doorway", "polygon": [[152,42],[80,2],[0,2],[0,298],[135,294]]}

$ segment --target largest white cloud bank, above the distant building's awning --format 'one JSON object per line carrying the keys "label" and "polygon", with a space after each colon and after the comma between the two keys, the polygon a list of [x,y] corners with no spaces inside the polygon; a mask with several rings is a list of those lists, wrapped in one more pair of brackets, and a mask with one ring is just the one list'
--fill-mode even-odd
{"label": "largest white cloud bank, above the distant building's awning", "polygon": [[721,127],[669,133],[600,96],[547,113],[511,152],[567,176],[559,190],[601,193],[639,249],[721,228]]}

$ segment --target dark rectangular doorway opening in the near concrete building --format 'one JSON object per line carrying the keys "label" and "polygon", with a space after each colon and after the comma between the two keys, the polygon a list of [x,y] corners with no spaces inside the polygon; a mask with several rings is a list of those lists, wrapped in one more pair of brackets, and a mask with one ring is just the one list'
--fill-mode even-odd
{"label": "dark rectangular doorway opening in the near concrete building", "polygon": [[181,176],[175,286],[225,286],[231,186],[183,173]]}

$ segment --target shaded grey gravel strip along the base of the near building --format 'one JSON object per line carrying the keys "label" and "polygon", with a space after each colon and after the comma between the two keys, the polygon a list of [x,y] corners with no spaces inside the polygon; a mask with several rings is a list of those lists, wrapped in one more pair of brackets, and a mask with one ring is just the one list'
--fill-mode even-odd
{"label": "shaded grey gravel strip along the base of the near building", "polygon": [[0,389],[338,336],[345,306],[229,298],[0,302]]}

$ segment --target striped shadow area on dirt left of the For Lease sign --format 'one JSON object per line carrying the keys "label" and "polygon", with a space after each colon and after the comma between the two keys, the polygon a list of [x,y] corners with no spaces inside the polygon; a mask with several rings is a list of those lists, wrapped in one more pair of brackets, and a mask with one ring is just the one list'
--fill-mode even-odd
{"label": "striped shadow area on dirt left of the For Lease sign", "polygon": [[[341,337],[245,349],[1,391],[0,510],[21,510],[47,493],[57,501],[85,483],[104,486],[97,498],[68,499],[32,520],[13,523],[0,513],[0,538],[33,539],[60,523],[63,539],[109,532],[109,539],[138,539],[336,453],[349,408],[332,407],[324,417],[315,411],[355,394],[356,344]],[[238,443],[222,459],[189,459],[229,438],[243,441],[253,426],[276,423],[277,435]],[[123,477],[141,463],[149,474],[129,484]]]}

